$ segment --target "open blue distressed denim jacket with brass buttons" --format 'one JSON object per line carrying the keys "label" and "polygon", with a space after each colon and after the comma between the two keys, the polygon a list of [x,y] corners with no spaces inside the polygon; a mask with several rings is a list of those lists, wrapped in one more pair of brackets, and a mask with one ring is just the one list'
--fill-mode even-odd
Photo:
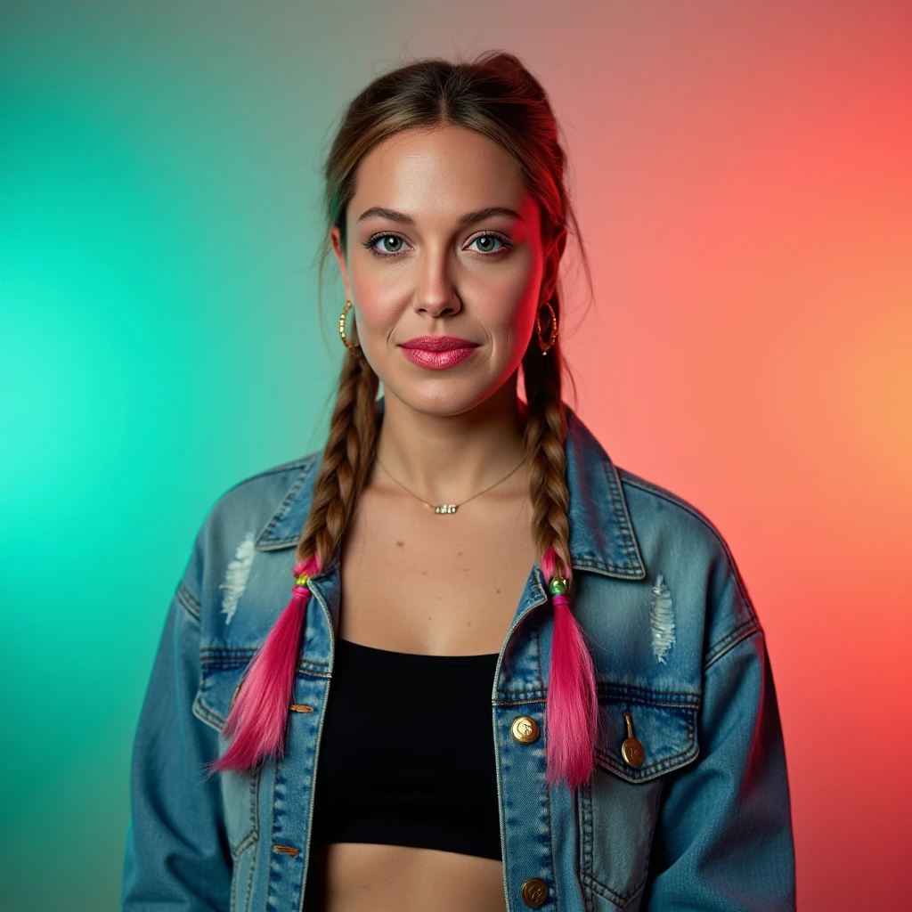
{"label": "open blue distressed denim jacket with brass buttons", "polygon": [[[575,792],[546,783],[554,615],[536,563],[491,693],[508,912],[793,909],[776,694],[731,552],[693,506],[618,468],[572,409],[567,418],[570,604],[596,667],[596,766]],[[304,908],[338,549],[310,580],[284,759],[209,778],[204,764],[224,750],[235,689],[288,603],[319,457],[239,482],[196,536],[133,749],[126,912]],[[514,734],[519,717],[542,736]],[[631,734],[642,753],[628,762]]]}

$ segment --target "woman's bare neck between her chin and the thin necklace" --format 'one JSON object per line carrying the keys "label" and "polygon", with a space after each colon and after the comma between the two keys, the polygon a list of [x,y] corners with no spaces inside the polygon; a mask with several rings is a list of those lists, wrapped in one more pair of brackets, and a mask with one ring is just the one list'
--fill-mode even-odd
{"label": "woman's bare neck between her chin and the thin necklace", "polygon": [[[429,503],[458,503],[499,481],[523,459],[523,402],[507,381],[459,415],[411,408],[384,389],[377,454],[399,482]],[[505,486],[523,489],[524,467]]]}

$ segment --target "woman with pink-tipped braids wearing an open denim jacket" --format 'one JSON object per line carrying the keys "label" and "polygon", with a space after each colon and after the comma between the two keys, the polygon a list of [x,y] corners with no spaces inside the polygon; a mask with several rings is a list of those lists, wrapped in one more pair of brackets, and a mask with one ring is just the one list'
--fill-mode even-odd
{"label": "woman with pink-tipped braids wearing an open denim jacket", "polygon": [[400,67],[347,110],[328,440],[202,524],[137,733],[124,908],[793,907],[738,569],[562,401],[564,161],[507,54]]}

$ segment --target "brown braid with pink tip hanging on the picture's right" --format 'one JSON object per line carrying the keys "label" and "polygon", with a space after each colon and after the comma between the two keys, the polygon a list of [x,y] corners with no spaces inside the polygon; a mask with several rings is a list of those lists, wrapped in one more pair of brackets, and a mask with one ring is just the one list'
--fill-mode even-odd
{"label": "brown braid with pink tip hanging on the picture's right", "polygon": [[[558,295],[551,299],[559,313]],[[596,676],[583,631],[570,611],[570,494],[566,483],[566,413],[559,342],[544,358],[537,345],[523,358],[529,403],[524,443],[530,461],[532,534],[554,605],[551,675],[545,704],[548,782],[575,788],[592,772],[598,723]],[[566,580],[562,585],[561,580]]]}

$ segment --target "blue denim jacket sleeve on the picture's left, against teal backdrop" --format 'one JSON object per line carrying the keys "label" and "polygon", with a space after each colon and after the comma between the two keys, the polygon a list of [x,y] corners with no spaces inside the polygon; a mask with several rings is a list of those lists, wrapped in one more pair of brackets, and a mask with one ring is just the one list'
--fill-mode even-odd
{"label": "blue denim jacket sleeve on the picture's left, against teal backdrop", "polygon": [[229,904],[220,777],[206,778],[205,770],[218,733],[192,713],[200,680],[199,541],[171,600],[133,745],[122,912],[224,912]]}

